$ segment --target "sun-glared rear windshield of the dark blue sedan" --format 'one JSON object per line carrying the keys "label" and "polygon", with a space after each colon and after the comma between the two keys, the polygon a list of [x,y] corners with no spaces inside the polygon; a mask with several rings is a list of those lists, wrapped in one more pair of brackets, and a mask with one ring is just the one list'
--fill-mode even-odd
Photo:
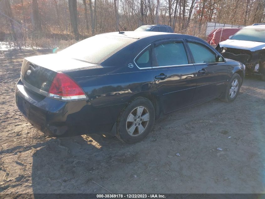
{"label": "sun-glared rear windshield of the dark blue sedan", "polygon": [[103,34],[79,41],[59,53],[68,58],[99,64],[134,41],[132,38]]}

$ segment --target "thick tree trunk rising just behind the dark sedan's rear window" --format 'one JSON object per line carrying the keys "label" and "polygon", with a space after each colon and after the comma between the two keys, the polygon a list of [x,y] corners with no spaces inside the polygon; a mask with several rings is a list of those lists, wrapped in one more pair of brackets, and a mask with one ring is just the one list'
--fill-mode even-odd
{"label": "thick tree trunk rising just behind the dark sedan's rear window", "polygon": [[71,20],[71,27],[74,33],[75,39],[79,39],[79,32],[77,28],[77,0],[68,0],[69,13]]}

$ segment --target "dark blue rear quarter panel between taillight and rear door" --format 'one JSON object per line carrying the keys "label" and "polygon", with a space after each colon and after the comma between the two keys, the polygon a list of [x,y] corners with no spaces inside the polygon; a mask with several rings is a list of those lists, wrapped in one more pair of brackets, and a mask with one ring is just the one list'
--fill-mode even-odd
{"label": "dark blue rear quarter panel between taillight and rear door", "polygon": [[75,80],[94,107],[124,104],[142,92],[156,95],[151,70],[79,77]]}

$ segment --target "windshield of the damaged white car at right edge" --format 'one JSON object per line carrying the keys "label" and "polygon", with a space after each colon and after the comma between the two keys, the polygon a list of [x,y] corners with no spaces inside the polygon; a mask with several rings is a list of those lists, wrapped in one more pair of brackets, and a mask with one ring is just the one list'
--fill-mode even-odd
{"label": "windshield of the damaged white car at right edge", "polygon": [[231,39],[265,43],[265,29],[244,28],[239,30]]}

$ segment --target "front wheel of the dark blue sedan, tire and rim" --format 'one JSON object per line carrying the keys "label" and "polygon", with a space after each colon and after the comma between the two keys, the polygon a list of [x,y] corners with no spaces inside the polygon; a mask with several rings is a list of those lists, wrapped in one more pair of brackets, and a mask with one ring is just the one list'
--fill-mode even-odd
{"label": "front wheel of the dark blue sedan, tire and rim", "polygon": [[[237,86],[235,85],[236,81],[237,81]],[[228,83],[228,86],[225,91],[225,96],[222,98],[222,100],[225,102],[233,102],[238,96],[238,93],[241,87],[241,82],[242,80],[241,80],[240,75],[235,73]],[[232,86],[232,83],[234,83],[235,85],[234,87]],[[231,89],[233,89],[232,90],[233,93],[231,92]]]}

